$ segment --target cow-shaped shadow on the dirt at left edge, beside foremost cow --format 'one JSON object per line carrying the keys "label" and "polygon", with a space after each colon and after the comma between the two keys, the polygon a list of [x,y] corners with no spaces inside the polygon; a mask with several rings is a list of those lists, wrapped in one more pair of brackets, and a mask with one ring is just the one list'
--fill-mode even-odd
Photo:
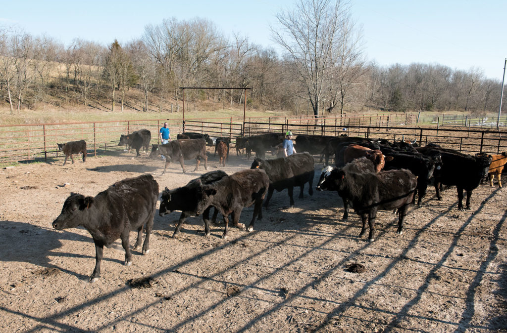
{"label": "cow-shaped shadow on the dirt at left edge, beside foremost cow", "polygon": [[[39,227],[25,222],[16,221],[2,221],[0,224],[0,258],[2,261],[12,262],[25,262],[28,264],[41,266],[45,268],[57,268],[62,272],[69,275],[74,275],[80,280],[88,280],[89,276],[80,274],[54,264],[49,257],[63,257],[63,258],[87,258],[95,260],[95,252],[93,251],[93,240],[89,236],[84,236],[72,231],[63,230],[56,231],[51,227]],[[62,240],[80,241],[90,246],[85,246],[90,249],[89,255],[64,253],[59,251],[61,248]],[[121,245],[118,245],[121,247]],[[113,245],[112,247],[118,247]],[[85,252],[87,251],[85,249]],[[135,252],[133,252],[135,253]],[[104,256],[103,260],[123,264],[123,261],[118,259],[107,258]]]}

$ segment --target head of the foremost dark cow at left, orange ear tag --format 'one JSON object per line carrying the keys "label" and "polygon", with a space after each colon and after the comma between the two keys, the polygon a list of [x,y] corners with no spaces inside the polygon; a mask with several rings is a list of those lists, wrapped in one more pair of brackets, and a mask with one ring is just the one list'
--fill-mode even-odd
{"label": "head of the foremost dark cow at left, orange ear tag", "polygon": [[93,206],[93,202],[94,199],[91,196],[85,197],[79,193],[70,193],[63,203],[60,215],[53,221],[53,228],[62,230],[77,227],[83,219],[87,219],[82,214]]}

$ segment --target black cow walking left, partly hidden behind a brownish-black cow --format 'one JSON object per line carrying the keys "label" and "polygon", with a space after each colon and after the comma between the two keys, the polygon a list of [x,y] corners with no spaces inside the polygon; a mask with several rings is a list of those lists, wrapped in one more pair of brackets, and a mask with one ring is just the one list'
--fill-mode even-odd
{"label": "black cow walking left, partly hidden behind a brownish-black cow", "polygon": [[[201,211],[204,221],[204,234],[209,236],[209,210],[211,206],[205,207],[205,209],[202,210],[202,207],[199,205],[202,203],[202,185],[211,184],[226,176],[227,174],[222,170],[211,171],[201,175],[199,178],[191,180],[183,187],[178,187],[173,190],[169,190],[166,187],[165,190],[162,191],[159,215],[164,216],[174,211],[182,212],[172,237],[175,237],[179,233],[187,217],[199,215]],[[197,180],[199,180],[199,182]],[[217,215],[218,210],[215,209],[213,222],[216,221]]]}

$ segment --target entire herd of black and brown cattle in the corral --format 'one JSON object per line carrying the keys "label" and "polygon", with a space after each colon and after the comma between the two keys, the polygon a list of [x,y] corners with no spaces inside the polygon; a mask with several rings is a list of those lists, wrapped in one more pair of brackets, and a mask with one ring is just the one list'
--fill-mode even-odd
{"label": "entire herd of black and brown cattle in the corral", "polygon": [[[214,140],[213,140],[214,139]],[[250,159],[251,151],[256,153],[250,169],[227,175],[222,170],[212,171],[190,181],[187,185],[175,189],[165,187],[162,191],[159,215],[173,211],[182,212],[174,230],[173,237],[180,232],[189,216],[203,218],[205,235],[210,234],[209,213],[214,207],[212,222],[216,223],[218,214],[224,218],[225,228],[222,238],[228,235],[229,216],[233,225],[242,230],[253,230],[255,220],[262,219],[262,204],[267,207],[274,192],[287,189],[289,204],[295,204],[294,187],[300,187],[299,197],[303,198],[304,186],[308,183],[308,194],[313,194],[314,157],[325,165],[334,156],[335,166],[325,166],[316,185],[317,190],[336,191],[344,202],[343,220],[348,219],[348,205],[351,203],[355,213],[361,217],[363,228],[359,236],[369,226],[369,240],[374,241],[375,219],[378,210],[397,211],[397,233],[403,232],[403,221],[410,204],[422,206],[426,188],[433,183],[437,199],[442,200],[442,185],[457,188],[458,209],[470,209],[470,196],[486,175],[493,186],[497,175],[501,187],[501,173],[507,162],[507,152],[500,155],[478,153],[466,155],[456,150],[441,148],[429,144],[418,147],[417,142],[405,140],[389,142],[385,139],[359,137],[331,137],[299,135],[295,147],[301,153],[288,157],[265,159],[266,152],[273,155],[280,152],[284,135],[268,133],[250,137],[236,137],[236,154],[246,150]],[[128,145],[136,150],[144,148],[148,153],[151,133],[148,130],[122,135],[119,145]],[[231,139],[212,138],[207,134],[183,133],[177,140],[167,144],[154,144],[150,157],[165,157],[165,173],[171,160],[178,160],[185,173],[184,160],[196,159],[197,171],[201,160],[207,170],[206,144],[215,142],[215,152],[220,165],[225,166],[229,155]],[[72,154],[83,153],[86,160],[86,142],[84,140],[58,144],[59,151],[65,154],[65,162]],[[465,208],[462,204],[463,190],[466,191]],[[266,197],[267,194],[267,197]],[[159,185],[151,175],[129,178],[119,181],[95,197],[85,197],[71,193],[65,200],[61,214],[53,222],[58,230],[85,227],[92,235],[96,250],[96,265],[90,282],[100,276],[100,263],[103,246],[109,246],[121,238],[125,249],[125,265],[130,265],[132,256],[129,251],[129,234],[137,231],[135,248],[141,246],[141,236],[146,226],[146,239],[142,245],[142,254],[149,252],[150,233],[153,227],[156,203],[159,198]],[[253,216],[247,228],[239,223],[243,207],[254,205]]]}

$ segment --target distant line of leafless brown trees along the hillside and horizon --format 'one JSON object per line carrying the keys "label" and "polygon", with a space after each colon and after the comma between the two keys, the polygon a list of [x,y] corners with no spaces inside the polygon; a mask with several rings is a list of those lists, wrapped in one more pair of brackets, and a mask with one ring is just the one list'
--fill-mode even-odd
{"label": "distant line of leafless brown trees along the hillside and horizon", "polygon": [[[75,39],[63,45],[0,27],[0,96],[11,112],[44,103],[162,111],[180,101],[178,87],[248,87],[246,104],[259,110],[312,114],[307,87],[289,57],[251,44],[247,37],[224,37],[202,19],[164,20],[147,26],[141,38],[103,46]],[[388,67],[354,60],[343,75],[324,80],[324,114],[382,109],[395,111],[497,111],[501,82],[472,68],[439,64]],[[341,72],[335,71],[334,75]],[[347,82],[344,88],[340,86]],[[242,90],[185,92],[186,102],[242,104]],[[115,105],[116,103],[116,105]],[[177,105],[174,105],[176,108]]]}

